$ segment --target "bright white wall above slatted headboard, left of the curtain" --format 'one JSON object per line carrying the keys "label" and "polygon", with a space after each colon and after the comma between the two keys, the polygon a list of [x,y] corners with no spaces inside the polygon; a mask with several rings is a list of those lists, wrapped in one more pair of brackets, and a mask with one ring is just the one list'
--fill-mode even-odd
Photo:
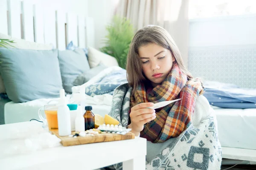
{"label": "bright white wall above slatted headboard, left of the curtain", "polygon": [[[93,17],[95,28],[95,48],[101,48],[107,34],[106,26],[111,22],[115,6],[119,0],[27,0],[41,4],[44,8],[74,12]],[[50,4],[50,6],[49,6]],[[47,6],[47,7],[46,7]]]}

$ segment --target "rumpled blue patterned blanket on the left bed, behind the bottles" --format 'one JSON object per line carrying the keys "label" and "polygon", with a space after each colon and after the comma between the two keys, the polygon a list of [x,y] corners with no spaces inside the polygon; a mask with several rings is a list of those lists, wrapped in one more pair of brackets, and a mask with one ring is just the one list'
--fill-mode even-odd
{"label": "rumpled blue patterned blanket on the left bed, behind the bottles", "polygon": [[86,85],[85,93],[89,96],[111,94],[116,87],[127,83],[126,70],[120,67],[111,67],[97,75],[93,83]]}

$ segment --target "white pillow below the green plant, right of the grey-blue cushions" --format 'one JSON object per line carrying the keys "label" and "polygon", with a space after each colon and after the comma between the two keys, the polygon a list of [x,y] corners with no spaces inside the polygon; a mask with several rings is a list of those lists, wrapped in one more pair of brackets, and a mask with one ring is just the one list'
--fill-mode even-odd
{"label": "white pillow below the green plant, right of the grey-blue cushions", "polygon": [[119,66],[116,59],[108,54],[102,53],[95,48],[88,47],[88,62],[90,68],[94,68],[101,62],[107,67]]}

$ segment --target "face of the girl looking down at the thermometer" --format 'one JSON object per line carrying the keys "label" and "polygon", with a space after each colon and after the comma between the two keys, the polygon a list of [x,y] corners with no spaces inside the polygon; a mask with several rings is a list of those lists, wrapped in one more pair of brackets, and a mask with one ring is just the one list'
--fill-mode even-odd
{"label": "face of the girl looking down at the thermometer", "polygon": [[151,81],[153,87],[160,85],[169,75],[175,57],[170,50],[155,43],[143,45],[138,51],[145,77]]}

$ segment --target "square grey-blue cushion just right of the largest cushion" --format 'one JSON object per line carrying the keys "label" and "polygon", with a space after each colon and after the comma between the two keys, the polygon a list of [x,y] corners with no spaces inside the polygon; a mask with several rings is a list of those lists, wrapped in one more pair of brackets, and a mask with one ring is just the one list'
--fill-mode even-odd
{"label": "square grey-blue cushion just right of the largest cushion", "polygon": [[87,57],[83,49],[59,51],[58,59],[64,90],[72,93],[73,82],[80,74],[90,70]]}

